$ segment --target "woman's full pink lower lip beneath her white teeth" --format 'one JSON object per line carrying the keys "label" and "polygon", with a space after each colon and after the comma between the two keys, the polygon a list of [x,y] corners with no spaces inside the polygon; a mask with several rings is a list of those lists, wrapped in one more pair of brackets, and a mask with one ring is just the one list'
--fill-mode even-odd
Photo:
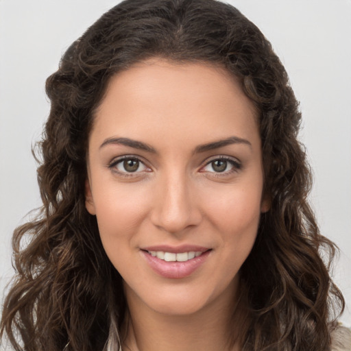
{"label": "woman's full pink lower lip beneath her white teeth", "polygon": [[186,262],[167,262],[154,257],[146,251],[141,251],[149,266],[160,276],[171,279],[181,279],[191,276],[208,258],[210,250]]}

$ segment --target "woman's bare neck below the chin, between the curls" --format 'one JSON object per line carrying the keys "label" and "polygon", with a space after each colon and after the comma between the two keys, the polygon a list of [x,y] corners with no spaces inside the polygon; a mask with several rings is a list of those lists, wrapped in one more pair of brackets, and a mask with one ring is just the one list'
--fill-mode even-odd
{"label": "woman's bare neck below the chin, between the curls", "polygon": [[234,302],[231,306],[213,302],[191,315],[165,315],[135,299],[128,298],[123,351],[241,350],[245,313]]}

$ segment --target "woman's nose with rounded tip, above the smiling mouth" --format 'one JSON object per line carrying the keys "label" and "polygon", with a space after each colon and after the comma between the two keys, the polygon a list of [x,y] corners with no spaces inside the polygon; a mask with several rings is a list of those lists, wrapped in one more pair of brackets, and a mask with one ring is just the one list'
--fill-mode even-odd
{"label": "woman's nose with rounded tip, above the smiling mouth", "polygon": [[174,172],[160,180],[154,193],[154,226],[171,234],[181,234],[184,230],[199,225],[202,213],[197,206],[196,191],[191,183],[186,175]]}

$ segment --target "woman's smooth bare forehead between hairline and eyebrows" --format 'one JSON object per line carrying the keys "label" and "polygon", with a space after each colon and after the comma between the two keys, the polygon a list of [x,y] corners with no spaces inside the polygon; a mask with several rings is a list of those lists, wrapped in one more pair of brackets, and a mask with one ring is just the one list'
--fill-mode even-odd
{"label": "woman's smooth bare forehead between hairline and eyebrows", "polygon": [[167,130],[172,138],[178,133],[195,140],[197,135],[247,134],[258,129],[256,121],[254,104],[226,69],[154,58],[110,79],[93,131],[140,139]]}

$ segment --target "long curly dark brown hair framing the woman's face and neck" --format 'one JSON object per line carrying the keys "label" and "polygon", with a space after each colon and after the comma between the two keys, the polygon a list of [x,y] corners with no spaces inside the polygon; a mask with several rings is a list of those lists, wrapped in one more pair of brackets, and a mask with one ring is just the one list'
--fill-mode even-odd
{"label": "long curly dark brown hair framing the woman's face and neck", "polygon": [[256,25],[215,0],[123,1],[69,47],[47,79],[51,111],[38,167],[43,207],[14,231],[16,277],[1,336],[16,351],[117,350],[128,307],[85,208],[86,150],[110,77],[152,57],[223,66],[259,111],[271,207],[241,267],[241,298],[249,306],[243,351],[329,350],[344,301],[328,273],[335,245],[319,234],[308,204],[311,171],[298,141],[298,101]]}

